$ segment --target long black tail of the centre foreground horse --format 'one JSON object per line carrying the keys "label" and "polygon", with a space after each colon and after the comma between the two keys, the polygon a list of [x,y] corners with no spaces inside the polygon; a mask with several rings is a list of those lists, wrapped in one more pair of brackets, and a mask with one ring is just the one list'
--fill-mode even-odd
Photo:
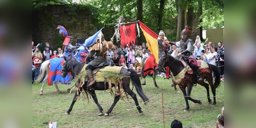
{"label": "long black tail of the centre foreground horse", "polygon": [[142,90],[141,83],[140,83],[140,78],[138,77],[137,73],[133,69],[128,69],[129,72],[131,72],[131,79],[135,85],[137,93],[140,95],[141,99],[143,102],[146,104],[146,102],[149,100],[148,97],[145,95],[145,93]]}

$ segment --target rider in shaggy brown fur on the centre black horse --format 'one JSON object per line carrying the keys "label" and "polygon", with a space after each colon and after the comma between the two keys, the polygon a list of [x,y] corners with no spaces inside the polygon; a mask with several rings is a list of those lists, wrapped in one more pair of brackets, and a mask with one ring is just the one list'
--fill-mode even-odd
{"label": "rider in shaggy brown fur on the centre black horse", "polygon": [[89,77],[90,81],[88,86],[91,86],[95,83],[95,79],[93,79],[92,71],[99,67],[108,66],[108,61],[106,60],[106,51],[109,51],[113,47],[113,38],[111,38],[111,42],[106,42],[104,35],[100,33],[97,37],[96,44],[93,45],[91,51],[89,52],[86,61],[88,58],[91,58],[93,55],[95,58],[90,61],[86,69],[86,75]]}

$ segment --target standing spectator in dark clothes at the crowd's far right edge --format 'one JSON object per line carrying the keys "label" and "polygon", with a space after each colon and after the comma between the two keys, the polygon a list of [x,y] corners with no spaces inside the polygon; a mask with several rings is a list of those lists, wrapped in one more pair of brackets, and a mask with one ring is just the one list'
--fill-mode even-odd
{"label": "standing spectator in dark clothes at the crowd's far right edge", "polygon": [[217,58],[217,67],[222,77],[224,74],[224,47],[222,42],[218,42],[218,58]]}

